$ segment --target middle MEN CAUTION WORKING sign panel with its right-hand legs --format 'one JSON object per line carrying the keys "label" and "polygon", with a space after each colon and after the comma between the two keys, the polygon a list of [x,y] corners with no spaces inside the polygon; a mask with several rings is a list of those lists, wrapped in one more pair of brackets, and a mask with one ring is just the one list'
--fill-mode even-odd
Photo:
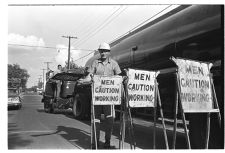
{"label": "middle MEN CAUTION WORKING sign panel with its right-hand legs", "polygon": [[126,88],[127,88],[126,99],[127,99],[129,108],[138,108],[138,107],[154,108],[154,133],[153,133],[153,148],[154,149],[156,148],[155,128],[156,128],[156,115],[157,115],[156,109],[157,109],[157,101],[158,101],[158,104],[160,107],[160,114],[162,117],[166,148],[168,149],[169,146],[167,141],[163,111],[161,107],[161,99],[160,99],[159,90],[158,90],[158,83],[156,81],[157,75],[158,75],[158,72],[154,72],[154,71],[129,69],[128,83],[126,85]]}

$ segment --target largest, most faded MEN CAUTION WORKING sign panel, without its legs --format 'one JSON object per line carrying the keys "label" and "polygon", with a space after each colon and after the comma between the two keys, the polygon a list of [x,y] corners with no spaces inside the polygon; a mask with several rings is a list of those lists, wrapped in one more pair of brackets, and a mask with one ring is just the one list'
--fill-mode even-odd
{"label": "largest, most faded MEN CAUTION WORKING sign panel, without its legs", "polygon": [[175,58],[172,60],[178,66],[180,97],[184,112],[213,110],[209,76],[212,64]]}

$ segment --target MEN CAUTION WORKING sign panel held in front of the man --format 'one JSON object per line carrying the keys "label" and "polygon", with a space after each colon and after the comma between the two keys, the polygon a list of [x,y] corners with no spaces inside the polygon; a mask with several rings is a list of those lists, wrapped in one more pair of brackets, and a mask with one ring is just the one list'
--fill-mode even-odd
{"label": "MEN CAUTION WORKING sign panel held in front of the man", "polygon": [[121,104],[121,76],[94,75],[93,81],[93,105]]}

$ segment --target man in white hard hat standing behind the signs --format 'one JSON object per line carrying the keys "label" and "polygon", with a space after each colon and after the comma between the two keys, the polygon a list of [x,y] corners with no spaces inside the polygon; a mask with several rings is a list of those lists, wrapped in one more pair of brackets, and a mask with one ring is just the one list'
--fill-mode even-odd
{"label": "man in white hard hat standing behind the signs", "polygon": [[[111,59],[110,56],[110,46],[107,43],[101,43],[98,48],[100,58],[94,60],[92,65],[88,68],[89,74],[96,75],[118,75],[121,73],[118,63]],[[95,106],[95,122],[96,122],[96,135],[97,135],[97,146],[99,148],[99,138],[100,138],[100,119],[101,114],[104,113],[105,116],[105,144],[104,149],[110,149],[110,139],[113,130],[113,123],[115,118],[115,109],[113,105],[96,105]],[[93,131],[93,129],[92,129]],[[94,132],[92,132],[94,133]],[[92,136],[94,138],[94,136]],[[92,141],[92,149],[95,149],[95,142]]]}

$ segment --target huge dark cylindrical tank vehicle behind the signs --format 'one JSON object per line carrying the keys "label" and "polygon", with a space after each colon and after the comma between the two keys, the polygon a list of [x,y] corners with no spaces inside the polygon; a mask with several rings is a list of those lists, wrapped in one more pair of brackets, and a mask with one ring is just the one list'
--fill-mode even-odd
{"label": "huge dark cylindrical tank vehicle behind the signs", "polygon": [[[209,148],[214,149],[224,146],[221,64],[224,52],[223,17],[222,5],[181,5],[110,43],[111,57],[119,63],[121,69],[160,71],[157,80],[163,113],[168,119],[173,119],[176,97],[176,65],[170,58],[180,57],[213,63],[211,73],[222,117],[222,125],[219,125],[217,115],[211,114],[213,126],[210,130]],[[98,53],[85,66],[89,67],[97,58]],[[151,108],[137,108],[133,112],[145,116],[153,115]],[[191,147],[204,148],[206,113],[188,114],[187,120]]]}

